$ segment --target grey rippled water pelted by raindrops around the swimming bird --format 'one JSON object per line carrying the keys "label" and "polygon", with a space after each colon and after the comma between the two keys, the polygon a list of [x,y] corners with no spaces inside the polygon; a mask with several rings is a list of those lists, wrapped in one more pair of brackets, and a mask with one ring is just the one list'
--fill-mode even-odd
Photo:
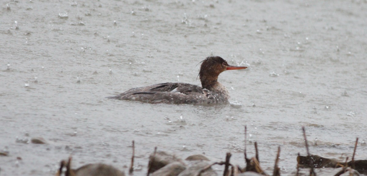
{"label": "grey rippled water pelted by raindrops around the swimming bird", "polygon": [[[0,5],[2,176],[54,175],[70,155],[74,168],[103,162],[127,171],[132,140],[135,175],[145,175],[155,146],[182,158],[232,152],[243,166],[245,125],[248,155],[257,141],[268,173],[281,146],[281,174],[294,175],[297,153],[306,153],[302,126],[311,153],[344,160],[359,137],[356,159],[367,159],[366,1]],[[197,64],[210,55],[249,67],[219,76],[232,105],[105,98],[155,83],[200,84]],[[48,144],[27,142],[33,137]]]}

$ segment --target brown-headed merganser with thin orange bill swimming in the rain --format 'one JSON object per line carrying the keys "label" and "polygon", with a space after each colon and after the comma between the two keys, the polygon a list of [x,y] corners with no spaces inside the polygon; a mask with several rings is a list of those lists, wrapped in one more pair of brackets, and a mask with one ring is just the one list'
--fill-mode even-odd
{"label": "brown-headed merganser with thin orange bill swimming in the rain", "polygon": [[168,104],[224,104],[228,103],[228,90],[218,82],[218,76],[226,70],[247,67],[228,65],[219,56],[207,57],[201,61],[199,78],[201,87],[189,83],[161,83],[130,89],[117,96],[107,97],[148,103]]}

